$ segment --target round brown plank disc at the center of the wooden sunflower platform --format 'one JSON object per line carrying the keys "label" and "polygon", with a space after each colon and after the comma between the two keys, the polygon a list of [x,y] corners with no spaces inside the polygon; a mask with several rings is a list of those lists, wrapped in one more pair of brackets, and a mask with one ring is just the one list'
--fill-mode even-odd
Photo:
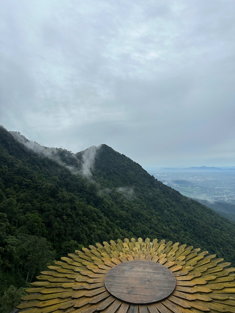
{"label": "round brown plank disc at the center of the wooden sunflower platform", "polygon": [[174,274],[151,261],[129,261],[114,266],[104,279],[108,292],[119,300],[149,304],[167,298],[175,289]]}

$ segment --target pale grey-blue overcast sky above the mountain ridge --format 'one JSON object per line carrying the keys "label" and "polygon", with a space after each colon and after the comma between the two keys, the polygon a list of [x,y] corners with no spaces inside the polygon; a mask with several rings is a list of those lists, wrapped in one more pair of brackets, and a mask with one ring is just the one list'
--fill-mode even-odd
{"label": "pale grey-blue overcast sky above the mountain ridge", "polygon": [[234,0],[2,0],[0,124],[143,167],[235,165]]}

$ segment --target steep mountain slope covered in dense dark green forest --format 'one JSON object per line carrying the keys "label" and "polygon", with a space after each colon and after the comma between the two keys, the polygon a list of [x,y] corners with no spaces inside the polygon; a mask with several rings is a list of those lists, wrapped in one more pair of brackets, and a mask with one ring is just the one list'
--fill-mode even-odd
{"label": "steep mountain slope covered in dense dark green forest", "polygon": [[84,175],[87,151],[36,153],[13,135],[0,127],[0,297],[54,259],[117,238],[180,241],[235,264],[235,224],[128,157],[102,145]]}

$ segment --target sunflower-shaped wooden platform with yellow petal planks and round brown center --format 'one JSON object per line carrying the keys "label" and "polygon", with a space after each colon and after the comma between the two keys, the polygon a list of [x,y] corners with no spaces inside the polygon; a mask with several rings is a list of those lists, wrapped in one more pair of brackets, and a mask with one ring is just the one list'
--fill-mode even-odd
{"label": "sunflower-shaped wooden platform with yellow petal planks and round brown center", "polygon": [[[150,242],[149,238],[145,242],[141,238],[111,240],[89,248],[68,254],[55,261],[56,266],[49,266],[49,271],[41,272],[18,308],[27,313],[235,313],[235,268],[215,254],[172,241]],[[118,268],[129,268],[121,279],[125,284],[119,284],[117,277],[110,280]],[[160,268],[165,271],[163,280],[159,276],[157,282]],[[165,286],[162,294],[157,289],[161,284]],[[122,292],[118,292],[120,285],[126,285]]]}

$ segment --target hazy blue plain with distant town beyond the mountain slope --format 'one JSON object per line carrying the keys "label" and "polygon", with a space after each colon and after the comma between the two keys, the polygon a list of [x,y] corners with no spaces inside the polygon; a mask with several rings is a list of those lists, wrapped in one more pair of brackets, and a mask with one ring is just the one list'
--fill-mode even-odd
{"label": "hazy blue plain with distant town beyond the mountain slope", "polygon": [[235,204],[235,167],[191,167],[146,170],[187,197]]}

